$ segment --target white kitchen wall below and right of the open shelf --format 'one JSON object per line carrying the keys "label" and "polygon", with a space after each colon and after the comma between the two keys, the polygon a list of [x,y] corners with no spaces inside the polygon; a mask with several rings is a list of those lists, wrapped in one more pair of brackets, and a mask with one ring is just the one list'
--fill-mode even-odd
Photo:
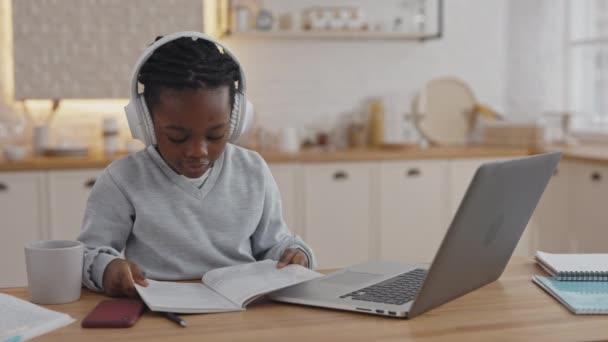
{"label": "white kitchen wall below and right of the open shelf", "polygon": [[445,30],[425,43],[375,40],[227,40],[245,65],[265,126],[322,127],[384,96],[400,111],[428,80],[459,77],[505,109],[507,0],[445,1]]}

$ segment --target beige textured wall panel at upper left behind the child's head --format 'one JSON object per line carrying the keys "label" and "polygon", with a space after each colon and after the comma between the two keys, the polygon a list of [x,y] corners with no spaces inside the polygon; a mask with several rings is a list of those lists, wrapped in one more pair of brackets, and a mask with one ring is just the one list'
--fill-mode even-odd
{"label": "beige textured wall panel at upper left behind the child's head", "polygon": [[201,0],[12,4],[16,98],[125,97],[146,45],[166,32],[203,26]]}

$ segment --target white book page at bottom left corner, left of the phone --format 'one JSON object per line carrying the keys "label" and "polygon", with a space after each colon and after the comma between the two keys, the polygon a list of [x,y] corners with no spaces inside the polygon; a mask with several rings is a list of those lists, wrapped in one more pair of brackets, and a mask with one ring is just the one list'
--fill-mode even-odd
{"label": "white book page at bottom left corner, left of the phone", "polygon": [[0,341],[27,340],[74,321],[67,314],[0,293]]}

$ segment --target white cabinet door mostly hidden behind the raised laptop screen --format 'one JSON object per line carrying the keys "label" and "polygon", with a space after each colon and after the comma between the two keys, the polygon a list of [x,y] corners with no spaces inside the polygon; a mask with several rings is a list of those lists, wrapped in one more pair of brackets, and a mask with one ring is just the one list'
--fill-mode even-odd
{"label": "white cabinet door mostly hidden behind the raised laptop screen", "polygon": [[[449,172],[449,212],[448,220],[451,221],[458,210],[460,201],[464,197],[464,194],[469,187],[469,183],[475,175],[475,171],[483,163],[507,160],[509,158],[483,158],[483,159],[452,159],[450,160],[450,172]],[[531,219],[530,223],[524,230],[522,237],[519,240],[514,255],[529,256],[533,254],[532,247],[530,246],[530,232],[535,230],[534,221]]]}

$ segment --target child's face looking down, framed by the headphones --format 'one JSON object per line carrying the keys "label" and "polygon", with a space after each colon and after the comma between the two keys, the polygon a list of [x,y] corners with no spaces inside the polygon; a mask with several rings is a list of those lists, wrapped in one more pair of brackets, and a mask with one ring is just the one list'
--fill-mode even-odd
{"label": "child's face looking down, framed by the headphones", "polygon": [[198,178],[228,142],[230,92],[216,89],[165,89],[153,109],[160,155],[177,173]]}

